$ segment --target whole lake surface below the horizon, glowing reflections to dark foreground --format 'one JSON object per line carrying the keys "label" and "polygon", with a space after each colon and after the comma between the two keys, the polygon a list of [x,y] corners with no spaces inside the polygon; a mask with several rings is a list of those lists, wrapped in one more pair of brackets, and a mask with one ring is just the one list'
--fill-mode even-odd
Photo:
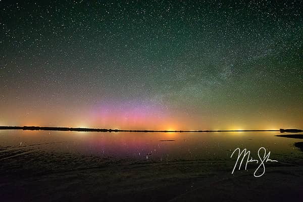
{"label": "whole lake surface below the horizon, glowing reflections to dark foreground", "polygon": [[[20,197],[21,201],[182,201],[201,195],[212,200],[214,191],[217,199],[226,199],[229,193],[241,191],[244,195],[230,200],[244,200],[249,193],[262,193],[259,185],[268,183],[272,196],[255,194],[250,199],[279,199],[283,184],[291,188],[288,198],[300,199],[303,153],[294,146],[300,139],[275,136],[279,134],[3,130],[0,197],[16,201]],[[230,156],[237,147],[250,150],[254,159],[258,159],[258,149],[265,147],[278,162],[267,163],[260,178],[254,177],[253,163],[247,171],[231,174],[236,158]],[[237,190],[235,184],[243,183],[250,190]]]}

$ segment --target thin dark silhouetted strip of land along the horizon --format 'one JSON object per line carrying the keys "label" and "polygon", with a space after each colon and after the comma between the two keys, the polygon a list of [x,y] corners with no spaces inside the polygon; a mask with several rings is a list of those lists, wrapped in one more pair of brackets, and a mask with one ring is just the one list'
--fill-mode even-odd
{"label": "thin dark silhouetted strip of land along the horizon", "polygon": [[68,128],[68,127],[40,127],[40,126],[0,126],[0,130],[56,130],[56,131],[80,131],[80,132],[262,132],[280,131],[301,132],[299,129],[280,130],[119,130],[104,128]]}

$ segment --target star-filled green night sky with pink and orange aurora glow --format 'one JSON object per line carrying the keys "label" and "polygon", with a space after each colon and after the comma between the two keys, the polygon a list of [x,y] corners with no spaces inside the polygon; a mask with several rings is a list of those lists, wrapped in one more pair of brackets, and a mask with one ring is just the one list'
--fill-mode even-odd
{"label": "star-filled green night sky with pink and orange aurora glow", "polygon": [[0,0],[0,125],[303,128],[303,2]]}

